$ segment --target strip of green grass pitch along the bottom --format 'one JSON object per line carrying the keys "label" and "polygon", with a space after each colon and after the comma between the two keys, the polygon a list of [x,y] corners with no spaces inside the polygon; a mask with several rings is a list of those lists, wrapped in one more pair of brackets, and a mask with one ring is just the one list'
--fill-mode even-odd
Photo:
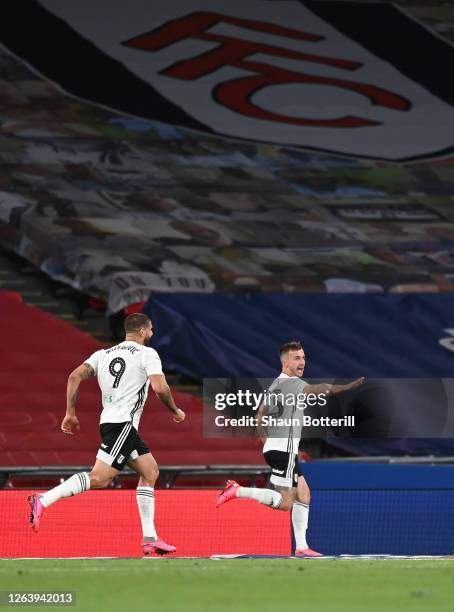
{"label": "strip of green grass pitch along the bottom", "polygon": [[68,611],[454,609],[452,560],[7,560],[0,561],[0,584],[8,591],[75,591],[75,607],[51,606]]}

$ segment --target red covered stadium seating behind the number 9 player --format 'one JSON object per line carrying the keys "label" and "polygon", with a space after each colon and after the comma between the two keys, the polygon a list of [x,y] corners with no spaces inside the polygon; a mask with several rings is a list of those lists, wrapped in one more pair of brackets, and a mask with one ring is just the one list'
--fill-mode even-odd
{"label": "red covered stadium seating behind the number 9 player", "polygon": [[[3,354],[0,365],[1,466],[90,465],[99,445],[99,390],[83,384],[78,399],[81,431],[64,436],[66,379],[84,358],[100,348],[91,336],[0,292]],[[141,434],[161,465],[262,464],[254,440],[205,439],[202,403],[174,393],[187,413],[182,424],[150,394]]]}

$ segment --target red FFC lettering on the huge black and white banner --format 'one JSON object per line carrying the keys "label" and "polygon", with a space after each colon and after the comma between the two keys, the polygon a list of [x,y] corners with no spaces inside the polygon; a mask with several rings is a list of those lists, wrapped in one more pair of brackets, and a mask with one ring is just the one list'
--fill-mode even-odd
{"label": "red FFC lettering on the huge black and white banner", "polygon": [[223,106],[255,119],[292,125],[340,128],[364,127],[379,124],[379,122],[376,121],[352,116],[339,117],[336,119],[303,119],[289,117],[287,115],[280,115],[267,111],[254,104],[251,100],[254,94],[265,87],[291,83],[338,87],[365,96],[376,106],[394,110],[405,111],[411,106],[406,98],[375,85],[335,77],[305,74],[279,68],[271,64],[251,61],[247,58],[250,58],[254,54],[261,53],[274,57],[332,66],[333,68],[341,70],[357,70],[362,66],[362,64],[355,61],[293,51],[285,47],[248,41],[232,36],[212,34],[206,31],[208,28],[219,23],[227,23],[243,29],[274,34],[292,40],[318,42],[323,39],[322,36],[285,28],[263,21],[240,19],[218,13],[200,12],[170,21],[160,28],[128,40],[124,44],[135,49],[156,52],[188,38],[218,43],[214,49],[210,49],[191,59],[177,62],[165,70],[162,70],[161,74],[172,78],[192,81],[224,68],[225,66],[234,66],[235,68],[252,72],[254,74],[251,76],[239,77],[220,83],[215,87],[213,93],[214,98]]}

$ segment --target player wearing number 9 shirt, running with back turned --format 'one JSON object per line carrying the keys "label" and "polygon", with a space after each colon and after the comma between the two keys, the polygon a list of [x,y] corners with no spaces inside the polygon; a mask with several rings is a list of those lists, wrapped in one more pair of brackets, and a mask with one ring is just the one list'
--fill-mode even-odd
{"label": "player wearing number 9 shirt, running with back turned", "polygon": [[123,342],[96,351],[68,378],[66,415],[61,430],[66,435],[73,435],[79,431],[76,416],[79,385],[91,376],[98,377],[103,410],[101,446],[96,462],[90,472],[74,474],[42,495],[33,493],[28,498],[30,523],[37,532],[45,508],[59,499],[89,489],[105,489],[127,464],[139,475],[136,498],[142,523],[142,550],[144,554],[167,554],[176,548],[160,540],[154,526],[154,485],[159,475],[158,465],[137,430],[150,384],[173,414],[175,422],[184,421],[185,413],[175,405],[158,353],[148,346],[153,335],[149,317],[143,313],[132,314],[126,318],[124,327],[126,339]]}

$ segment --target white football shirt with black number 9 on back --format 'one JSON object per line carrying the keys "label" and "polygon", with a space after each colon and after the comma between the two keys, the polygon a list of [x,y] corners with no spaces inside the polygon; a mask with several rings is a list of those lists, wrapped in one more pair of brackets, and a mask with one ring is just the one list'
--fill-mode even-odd
{"label": "white football shirt with black number 9 on back", "polygon": [[158,353],[125,340],[108,349],[96,351],[85,360],[98,377],[102,394],[100,423],[131,421],[138,429],[148,395],[151,374],[162,374]]}

